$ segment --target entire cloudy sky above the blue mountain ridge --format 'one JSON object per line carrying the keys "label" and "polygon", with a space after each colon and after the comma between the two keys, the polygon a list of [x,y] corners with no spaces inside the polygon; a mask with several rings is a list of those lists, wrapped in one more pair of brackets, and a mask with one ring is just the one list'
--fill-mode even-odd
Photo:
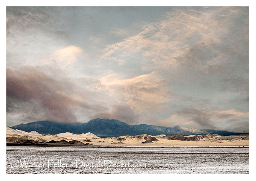
{"label": "entire cloudy sky above the blue mountain ridge", "polygon": [[7,7],[7,126],[249,131],[249,7]]}

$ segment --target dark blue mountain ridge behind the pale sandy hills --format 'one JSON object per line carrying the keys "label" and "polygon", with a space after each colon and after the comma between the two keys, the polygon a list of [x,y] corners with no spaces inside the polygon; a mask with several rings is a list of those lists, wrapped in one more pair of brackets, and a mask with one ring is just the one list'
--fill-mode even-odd
{"label": "dark blue mountain ridge behind the pale sandy hills", "polygon": [[90,120],[88,123],[56,123],[50,121],[38,121],[12,126],[10,128],[23,130],[26,132],[37,131],[39,134],[59,134],[65,132],[82,134],[91,132],[98,137],[118,137],[122,135],[133,136],[136,134],[148,134],[152,136],[159,134],[171,135],[176,133],[184,136],[188,136],[191,134],[208,134],[207,131],[197,130],[193,128],[184,128],[181,126],[168,128],[164,126],[150,126],[146,124],[128,125],[119,120],[106,119],[94,119]]}

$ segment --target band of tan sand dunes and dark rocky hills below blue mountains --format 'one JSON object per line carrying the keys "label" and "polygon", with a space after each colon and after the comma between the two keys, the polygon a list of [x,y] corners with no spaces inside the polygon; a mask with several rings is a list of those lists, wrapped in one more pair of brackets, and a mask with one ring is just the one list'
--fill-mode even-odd
{"label": "band of tan sand dunes and dark rocky hills below blue mountains", "polygon": [[[29,136],[18,134],[7,134],[6,142],[15,144],[46,144],[46,145],[96,145],[96,146],[249,146],[249,136],[234,137],[225,140],[223,137],[213,136],[212,134],[184,137],[179,134],[173,135],[157,135],[151,136],[147,134],[139,134],[134,136],[120,137],[91,137],[84,139],[83,137],[59,137],[57,135]],[[10,144],[8,144],[10,145]]]}

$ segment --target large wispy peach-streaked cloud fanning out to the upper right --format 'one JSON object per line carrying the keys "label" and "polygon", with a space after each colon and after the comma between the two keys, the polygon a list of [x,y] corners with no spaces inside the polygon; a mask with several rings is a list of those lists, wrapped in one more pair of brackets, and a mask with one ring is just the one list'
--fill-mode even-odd
{"label": "large wispy peach-streaked cloud fanning out to the upper right", "polygon": [[[184,71],[191,70],[191,65],[196,68],[193,69],[196,73],[202,71],[204,74],[207,74],[208,67],[211,71],[216,65],[223,67],[221,73],[227,75],[224,70],[230,64],[225,61],[236,61],[235,56],[247,51],[241,46],[248,44],[248,35],[241,32],[241,29],[245,32],[248,30],[248,19],[237,15],[236,20],[241,21],[243,26],[234,31],[237,23],[230,9],[234,8],[211,8],[207,12],[199,9],[199,13],[176,8],[168,12],[164,20],[150,23],[140,33],[106,47],[102,58],[126,65],[131,55],[139,53],[136,58],[144,63],[143,70],[165,70],[180,76]],[[225,18],[221,18],[221,15],[225,15]],[[234,37],[239,37],[239,41]],[[224,64],[220,64],[221,61]]]}

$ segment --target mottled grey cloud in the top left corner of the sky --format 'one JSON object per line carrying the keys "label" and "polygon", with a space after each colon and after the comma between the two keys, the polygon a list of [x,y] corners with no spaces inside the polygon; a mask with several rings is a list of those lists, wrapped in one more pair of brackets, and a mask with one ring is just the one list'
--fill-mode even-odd
{"label": "mottled grey cloud in the top left corner of the sky", "polygon": [[68,38],[59,20],[52,16],[58,14],[59,10],[59,7],[6,7],[7,37],[24,40],[35,38],[34,44],[37,43],[35,40],[41,39],[43,35],[44,38]]}

